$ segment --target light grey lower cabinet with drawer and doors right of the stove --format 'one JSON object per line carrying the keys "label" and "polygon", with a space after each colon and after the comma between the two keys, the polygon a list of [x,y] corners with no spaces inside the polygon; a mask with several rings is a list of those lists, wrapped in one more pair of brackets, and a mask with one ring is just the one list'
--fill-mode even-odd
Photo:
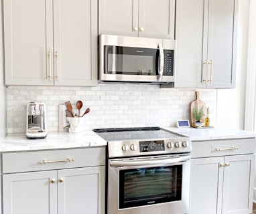
{"label": "light grey lower cabinet with drawer and doors right of the stove", "polygon": [[[255,154],[240,153],[255,152],[254,140],[249,144],[246,139],[201,143],[209,148],[204,150],[206,157],[193,158],[192,154],[190,214],[252,213]],[[200,142],[193,150],[199,147]]]}

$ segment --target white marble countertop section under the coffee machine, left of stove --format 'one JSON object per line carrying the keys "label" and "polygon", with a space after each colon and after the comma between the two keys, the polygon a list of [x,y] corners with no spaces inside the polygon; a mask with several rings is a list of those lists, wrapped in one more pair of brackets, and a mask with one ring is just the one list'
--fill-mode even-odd
{"label": "white marble countertop section under the coffee machine, left of stove", "polygon": [[43,139],[27,139],[25,134],[7,134],[5,140],[0,144],[0,152],[90,146],[107,146],[107,141],[92,130],[86,130],[82,133],[50,132]]}

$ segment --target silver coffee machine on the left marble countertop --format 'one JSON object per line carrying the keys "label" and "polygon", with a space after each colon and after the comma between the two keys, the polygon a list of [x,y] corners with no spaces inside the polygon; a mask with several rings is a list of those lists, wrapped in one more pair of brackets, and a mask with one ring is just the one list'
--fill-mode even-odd
{"label": "silver coffee machine on the left marble countertop", "polygon": [[28,139],[46,138],[46,105],[42,102],[27,104],[27,131]]}

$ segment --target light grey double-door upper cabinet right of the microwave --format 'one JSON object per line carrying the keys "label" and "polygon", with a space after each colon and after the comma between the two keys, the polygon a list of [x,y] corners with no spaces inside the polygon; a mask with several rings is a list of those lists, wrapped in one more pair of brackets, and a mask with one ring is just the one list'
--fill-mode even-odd
{"label": "light grey double-door upper cabinet right of the microwave", "polygon": [[237,0],[176,2],[176,88],[235,88]]}

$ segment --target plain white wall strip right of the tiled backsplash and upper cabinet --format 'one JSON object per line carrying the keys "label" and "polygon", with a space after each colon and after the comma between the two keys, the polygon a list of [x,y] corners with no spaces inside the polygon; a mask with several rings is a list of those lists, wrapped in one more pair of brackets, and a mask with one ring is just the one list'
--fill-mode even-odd
{"label": "plain white wall strip right of the tiled backsplash and upper cabinet", "polygon": [[217,90],[218,126],[244,129],[245,124],[245,93],[248,57],[249,5],[250,1],[239,1],[239,25],[237,43],[237,78],[236,88]]}

